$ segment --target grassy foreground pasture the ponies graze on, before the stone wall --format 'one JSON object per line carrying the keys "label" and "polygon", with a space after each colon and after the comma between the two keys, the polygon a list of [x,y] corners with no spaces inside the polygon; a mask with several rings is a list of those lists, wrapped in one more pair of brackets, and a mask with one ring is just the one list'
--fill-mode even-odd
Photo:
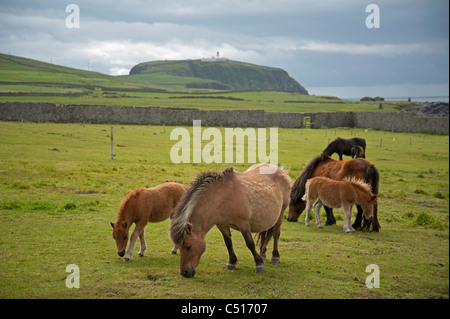
{"label": "grassy foreground pasture the ponies graze on, before the stone wall", "polygon": [[[122,198],[136,186],[190,183],[205,170],[250,164],[173,164],[168,126],[114,125],[111,160],[110,127],[0,122],[0,298],[449,297],[448,136],[280,128],[279,163],[293,180],[328,140],[366,138],[380,172],[380,232],[345,234],[339,209],[337,225],[323,229],[305,227],[302,214],[282,224],[281,264],[255,274],[236,231],[239,263],[225,269],[227,250],[213,228],[196,276],[186,279],[179,254],[170,254],[169,221],[147,225],[144,257],[139,243],[129,262],[117,255],[109,222]],[[80,288],[66,287],[69,264],[80,269]],[[370,264],[380,288],[366,287]]]}

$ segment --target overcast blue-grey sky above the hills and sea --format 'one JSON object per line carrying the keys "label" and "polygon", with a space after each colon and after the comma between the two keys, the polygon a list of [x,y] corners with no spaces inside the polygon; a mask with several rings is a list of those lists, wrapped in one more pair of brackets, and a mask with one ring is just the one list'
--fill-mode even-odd
{"label": "overcast blue-grey sky above the hills and sea", "polygon": [[[79,28],[66,26],[71,3]],[[371,3],[379,28],[366,26]],[[310,94],[448,96],[449,1],[0,0],[6,54],[119,75],[217,51],[283,68]]]}

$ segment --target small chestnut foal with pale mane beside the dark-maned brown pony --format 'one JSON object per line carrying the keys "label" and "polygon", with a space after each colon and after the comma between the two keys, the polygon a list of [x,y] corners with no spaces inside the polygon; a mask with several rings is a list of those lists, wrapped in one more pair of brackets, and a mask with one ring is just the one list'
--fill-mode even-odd
{"label": "small chestnut foal with pale mane beside the dark-maned brown pony", "polygon": [[362,180],[346,177],[343,181],[334,181],[327,177],[313,177],[306,182],[306,191],[303,200],[306,204],[305,224],[309,226],[309,212],[316,201],[314,207],[316,212],[316,224],[322,228],[320,220],[320,207],[340,208],[344,210],[344,231],[346,233],[354,232],[355,229],[350,225],[352,216],[352,206],[354,204],[362,207],[366,219],[373,218],[373,206],[377,201],[377,195],[372,194],[372,188]]}

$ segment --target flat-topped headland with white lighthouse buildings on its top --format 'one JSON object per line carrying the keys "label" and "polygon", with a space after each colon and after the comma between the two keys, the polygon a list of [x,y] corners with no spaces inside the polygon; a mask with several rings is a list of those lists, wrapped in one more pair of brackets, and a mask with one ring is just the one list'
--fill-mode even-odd
{"label": "flat-topped headland with white lighthouse buildings on its top", "polygon": [[277,90],[308,95],[308,91],[282,69],[231,60],[145,62],[134,66],[128,78],[178,89]]}

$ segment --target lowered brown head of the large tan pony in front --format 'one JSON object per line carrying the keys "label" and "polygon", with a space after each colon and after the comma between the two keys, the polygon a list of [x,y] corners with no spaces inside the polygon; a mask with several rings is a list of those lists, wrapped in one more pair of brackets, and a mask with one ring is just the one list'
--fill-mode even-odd
{"label": "lowered brown head of the large tan pony in front", "polygon": [[180,275],[191,278],[195,275],[195,268],[205,252],[206,242],[204,235],[192,232],[190,223],[186,224],[186,235],[180,248]]}

